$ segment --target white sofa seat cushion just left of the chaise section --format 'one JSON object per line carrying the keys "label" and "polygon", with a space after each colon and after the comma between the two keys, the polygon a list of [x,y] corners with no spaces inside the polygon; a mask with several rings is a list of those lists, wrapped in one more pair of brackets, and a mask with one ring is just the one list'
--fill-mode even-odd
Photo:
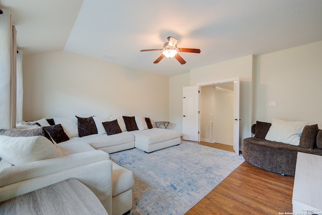
{"label": "white sofa seat cushion just left of the chaise section", "polygon": [[93,134],[83,136],[82,139],[95,149],[126,144],[134,141],[134,135],[129,132],[121,132],[113,135]]}

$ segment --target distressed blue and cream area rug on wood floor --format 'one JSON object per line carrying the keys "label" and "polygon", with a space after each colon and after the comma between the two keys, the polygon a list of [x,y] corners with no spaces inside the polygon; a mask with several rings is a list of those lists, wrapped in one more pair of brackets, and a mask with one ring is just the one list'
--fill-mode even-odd
{"label": "distressed blue and cream area rug on wood floor", "polygon": [[130,214],[171,215],[186,213],[245,161],[235,153],[186,141],[149,154],[135,148],[110,158],[134,174]]}

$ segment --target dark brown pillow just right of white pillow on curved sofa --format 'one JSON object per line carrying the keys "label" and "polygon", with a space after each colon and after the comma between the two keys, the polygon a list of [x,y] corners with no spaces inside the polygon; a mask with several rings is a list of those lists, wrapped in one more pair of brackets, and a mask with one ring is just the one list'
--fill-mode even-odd
{"label": "dark brown pillow just right of white pillow on curved sofa", "polygon": [[306,125],[300,137],[300,146],[306,149],[313,149],[316,143],[316,135],[318,133],[317,124]]}

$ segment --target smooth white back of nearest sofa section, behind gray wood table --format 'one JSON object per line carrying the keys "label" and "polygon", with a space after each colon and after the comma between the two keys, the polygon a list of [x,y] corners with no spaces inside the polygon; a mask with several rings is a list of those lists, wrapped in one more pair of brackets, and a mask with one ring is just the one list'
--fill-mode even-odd
{"label": "smooth white back of nearest sofa section, behind gray wood table", "polygon": [[0,201],[76,178],[112,214],[112,162],[103,151],[90,151],[12,166],[0,172]]}

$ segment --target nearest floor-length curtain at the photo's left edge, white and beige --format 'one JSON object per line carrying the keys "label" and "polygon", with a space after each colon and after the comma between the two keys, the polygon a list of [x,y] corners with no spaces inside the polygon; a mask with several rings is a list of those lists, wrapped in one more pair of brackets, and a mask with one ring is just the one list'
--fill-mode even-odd
{"label": "nearest floor-length curtain at the photo's left edge, white and beige", "polygon": [[0,128],[16,127],[16,34],[10,11],[0,9]]}

